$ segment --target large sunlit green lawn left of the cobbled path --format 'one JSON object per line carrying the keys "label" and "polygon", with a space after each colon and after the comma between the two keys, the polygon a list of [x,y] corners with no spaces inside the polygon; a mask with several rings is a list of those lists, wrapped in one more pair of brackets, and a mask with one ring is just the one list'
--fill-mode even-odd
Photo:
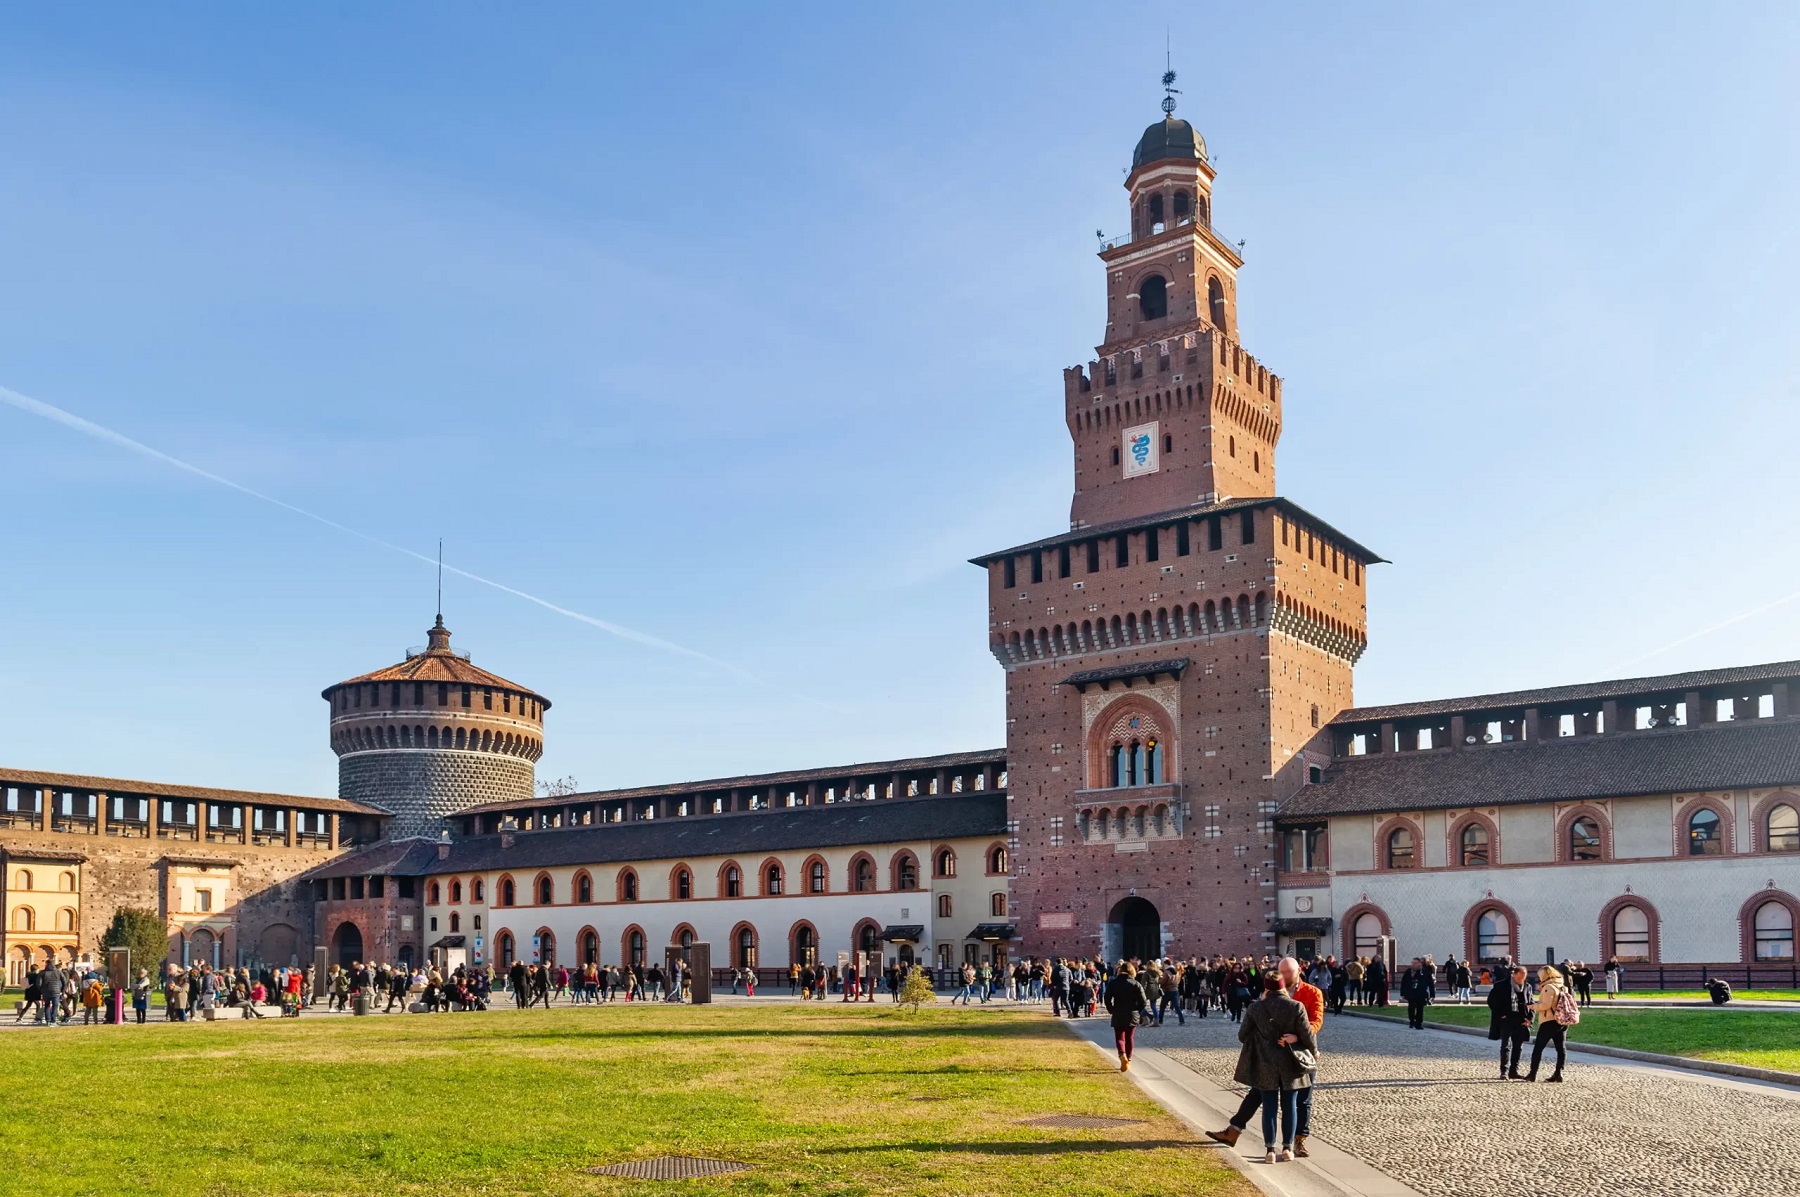
{"label": "large sunlit green lawn left of the cobbled path", "polygon": [[[7,1031],[0,1076],[16,1098],[0,1175],[41,1177],[38,1193],[1255,1192],[1024,1012],[634,1004]],[[1145,1121],[1019,1125],[1042,1114]],[[583,1172],[662,1154],[754,1170]]]}

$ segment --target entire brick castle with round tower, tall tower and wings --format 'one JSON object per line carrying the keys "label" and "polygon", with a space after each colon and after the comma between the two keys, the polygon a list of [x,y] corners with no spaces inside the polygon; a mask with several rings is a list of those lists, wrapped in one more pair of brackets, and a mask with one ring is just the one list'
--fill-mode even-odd
{"label": "entire brick castle with round tower, tall tower and wings", "polygon": [[0,769],[0,954],[785,970],[837,954],[1620,956],[1800,922],[1800,662],[1354,706],[1381,556],[1276,493],[1282,380],[1186,122],[1148,126],[1064,371],[1066,531],[976,558],[1006,747],[544,797],[551,704],[452,650],[324,689],[338,796]]}

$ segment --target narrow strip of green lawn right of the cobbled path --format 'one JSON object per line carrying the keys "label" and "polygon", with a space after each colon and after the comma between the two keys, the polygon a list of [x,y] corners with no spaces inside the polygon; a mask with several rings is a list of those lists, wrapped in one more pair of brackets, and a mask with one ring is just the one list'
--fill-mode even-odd
{"label": "narrow strip of green lawn right of the cobbled path", "polygon": [[[1370,1008],[1370,1013],[1404,1019],[1406,1006]],[[1427,1006],[1426,1022],[1487,1026],[1487,1006]],[[1800,1073],[1800,1012],[1606,1010],[1595,1004],[1582,1010],[1568,1037],[1571,1042]]]}

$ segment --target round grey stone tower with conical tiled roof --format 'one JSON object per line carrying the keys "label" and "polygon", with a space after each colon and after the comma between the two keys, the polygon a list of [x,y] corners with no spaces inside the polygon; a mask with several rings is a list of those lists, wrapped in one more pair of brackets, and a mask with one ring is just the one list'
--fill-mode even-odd
{"label": "round grey stone tower with conical tiled roof", "polygon": [[454,652],[443,616],[428,637],[400,664],[322,695],[338,797],[392,812],[389,839],[436,835],[468,806],[531,797],[544,756],[551,704]]}

